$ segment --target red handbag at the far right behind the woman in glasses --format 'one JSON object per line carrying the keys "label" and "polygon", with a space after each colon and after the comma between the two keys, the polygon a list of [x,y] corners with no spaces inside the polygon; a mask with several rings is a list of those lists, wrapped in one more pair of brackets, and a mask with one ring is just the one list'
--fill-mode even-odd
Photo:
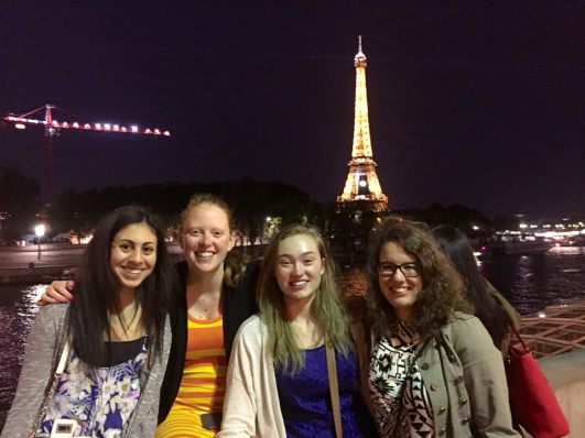
{"label": "red handbag at the far right behind the woman in glasses", "polygon": [[568,423],[537,360],[513,326],[519,344],[508,346],[506,377],[512,420],[535,438],[568,435]]}

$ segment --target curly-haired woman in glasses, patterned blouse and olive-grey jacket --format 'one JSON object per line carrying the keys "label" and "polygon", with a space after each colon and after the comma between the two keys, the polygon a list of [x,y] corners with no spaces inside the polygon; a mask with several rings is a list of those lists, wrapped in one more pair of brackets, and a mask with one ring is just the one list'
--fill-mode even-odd
{"label": "curly-haired woman in glasses, patterned blouse and olive-grey jacket", "polygon": [[387,219],[368,267],[362,382],[381,436],[518,437],[501,355],[481,322],[463,313],[473,311],[463,281],[429,229]]}

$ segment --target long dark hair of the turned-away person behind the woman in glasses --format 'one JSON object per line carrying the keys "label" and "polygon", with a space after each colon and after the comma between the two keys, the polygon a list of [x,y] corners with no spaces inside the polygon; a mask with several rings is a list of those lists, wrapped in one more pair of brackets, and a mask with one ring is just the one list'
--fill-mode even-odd
{"label": "long dark hair of the turned-away person behind the woman in glasses", "polygon": [[481,275],[467,237],[453,226],[432,230],[434,238],[465,281],[467,299],[486,327],[494,344],[506,354],[510,325],[520,328],[521,317],[510,303]]}

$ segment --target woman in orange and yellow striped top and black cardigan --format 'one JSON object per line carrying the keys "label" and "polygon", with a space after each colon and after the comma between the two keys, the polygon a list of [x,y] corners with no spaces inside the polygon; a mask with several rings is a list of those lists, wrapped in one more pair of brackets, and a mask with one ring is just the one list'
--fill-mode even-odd
{"label": "woman in orange and yellow striped top and black cardigan", "polygon": [[[219,430],[231,344],[240,324],[257,310],[258,263],[247,265],[246,258],[231,251],[234,244],[226,201],[213,194],[193,195],[181,213],[184,261],[175,265],[180,286],[170,309],[173,343],[156,438],[213,438]],[[53,282],[42,299],[68,302],[74,286]]]}

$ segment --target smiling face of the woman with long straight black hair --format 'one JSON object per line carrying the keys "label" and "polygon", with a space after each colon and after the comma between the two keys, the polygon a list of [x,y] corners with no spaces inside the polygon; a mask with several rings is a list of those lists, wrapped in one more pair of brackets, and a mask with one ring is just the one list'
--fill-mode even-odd
{"label": "smiling face of the woman with long straight black hair", "polygon": [[136,291],[155,264],[156,234],[148,223],[131,223],[113,237],[110,267],[120,289]]}

